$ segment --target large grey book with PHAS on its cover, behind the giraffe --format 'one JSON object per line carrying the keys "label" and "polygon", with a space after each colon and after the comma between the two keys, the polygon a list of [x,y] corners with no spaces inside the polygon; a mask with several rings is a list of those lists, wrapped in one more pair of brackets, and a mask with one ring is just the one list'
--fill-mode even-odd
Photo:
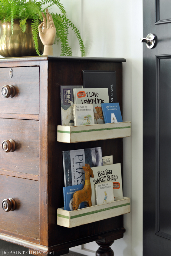
{"label": "large grey book with PHAS on its cover, behind the giraffe", "polygon": [[62,153],[65,187],[84,185],[85,174],[82,167],[85,164],[90,164],[90,167],[103,165],[101,147],[69,150]]}

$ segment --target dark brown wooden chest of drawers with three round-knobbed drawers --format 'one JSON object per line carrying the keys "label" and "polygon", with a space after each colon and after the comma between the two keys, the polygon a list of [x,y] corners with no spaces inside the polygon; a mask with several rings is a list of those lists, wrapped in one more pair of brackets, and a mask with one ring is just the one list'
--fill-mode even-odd
{"label": "dark brown wooden chest of drawers with three round-knobbed drawers", "polygon": [[[105,155],[113,155],[113,163],[123,162],[122,138],[57,142],[60,85],[82,85],[82,70],[116,70],[122,111],[123,61],[52,56],[0,60],[0,200],[13,198],[16,204],[14,211],[0,208],[1,239],[62,254],[75,245],[123,237],[123,216],[71,229],[57,225],[57,208],[64,205],[62,151],[101,146]],[[9,85],[15,89],[13,97]]]}

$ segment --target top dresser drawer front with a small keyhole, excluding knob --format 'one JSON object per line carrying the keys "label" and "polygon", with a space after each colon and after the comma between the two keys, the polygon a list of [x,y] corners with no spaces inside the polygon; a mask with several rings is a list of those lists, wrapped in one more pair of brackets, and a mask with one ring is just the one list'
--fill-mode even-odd
{"label": "top dresser drawer front with a small keyhole, excluding knob", "polygon": [[[12,67],[12,78],[10,70],[0,68],[0,113],[38,115],[39,67]],[[5,98],[2,95],[4,85],[14,86],[14,97]]]}

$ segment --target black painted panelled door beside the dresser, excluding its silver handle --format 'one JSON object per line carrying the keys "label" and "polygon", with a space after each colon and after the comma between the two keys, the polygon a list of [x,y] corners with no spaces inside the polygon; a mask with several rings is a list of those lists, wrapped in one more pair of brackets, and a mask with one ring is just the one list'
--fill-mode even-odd
{"label": "black painted panelled door beside the dresser, excluding its silver handle", "polygon": [[143,256],[171,255],[171,0],[143,0]]}

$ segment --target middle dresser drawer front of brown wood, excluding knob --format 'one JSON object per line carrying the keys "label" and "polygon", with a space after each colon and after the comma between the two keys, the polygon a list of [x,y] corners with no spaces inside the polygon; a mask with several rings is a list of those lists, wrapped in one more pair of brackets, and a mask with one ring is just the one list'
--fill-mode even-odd
{"label": "middle dresser drawer front of brown wood, excluding knob", "polygon": [[[0,118],[0,169],[39,175],[39,121]],[[15,151],[5,152],[3,141]]]}

